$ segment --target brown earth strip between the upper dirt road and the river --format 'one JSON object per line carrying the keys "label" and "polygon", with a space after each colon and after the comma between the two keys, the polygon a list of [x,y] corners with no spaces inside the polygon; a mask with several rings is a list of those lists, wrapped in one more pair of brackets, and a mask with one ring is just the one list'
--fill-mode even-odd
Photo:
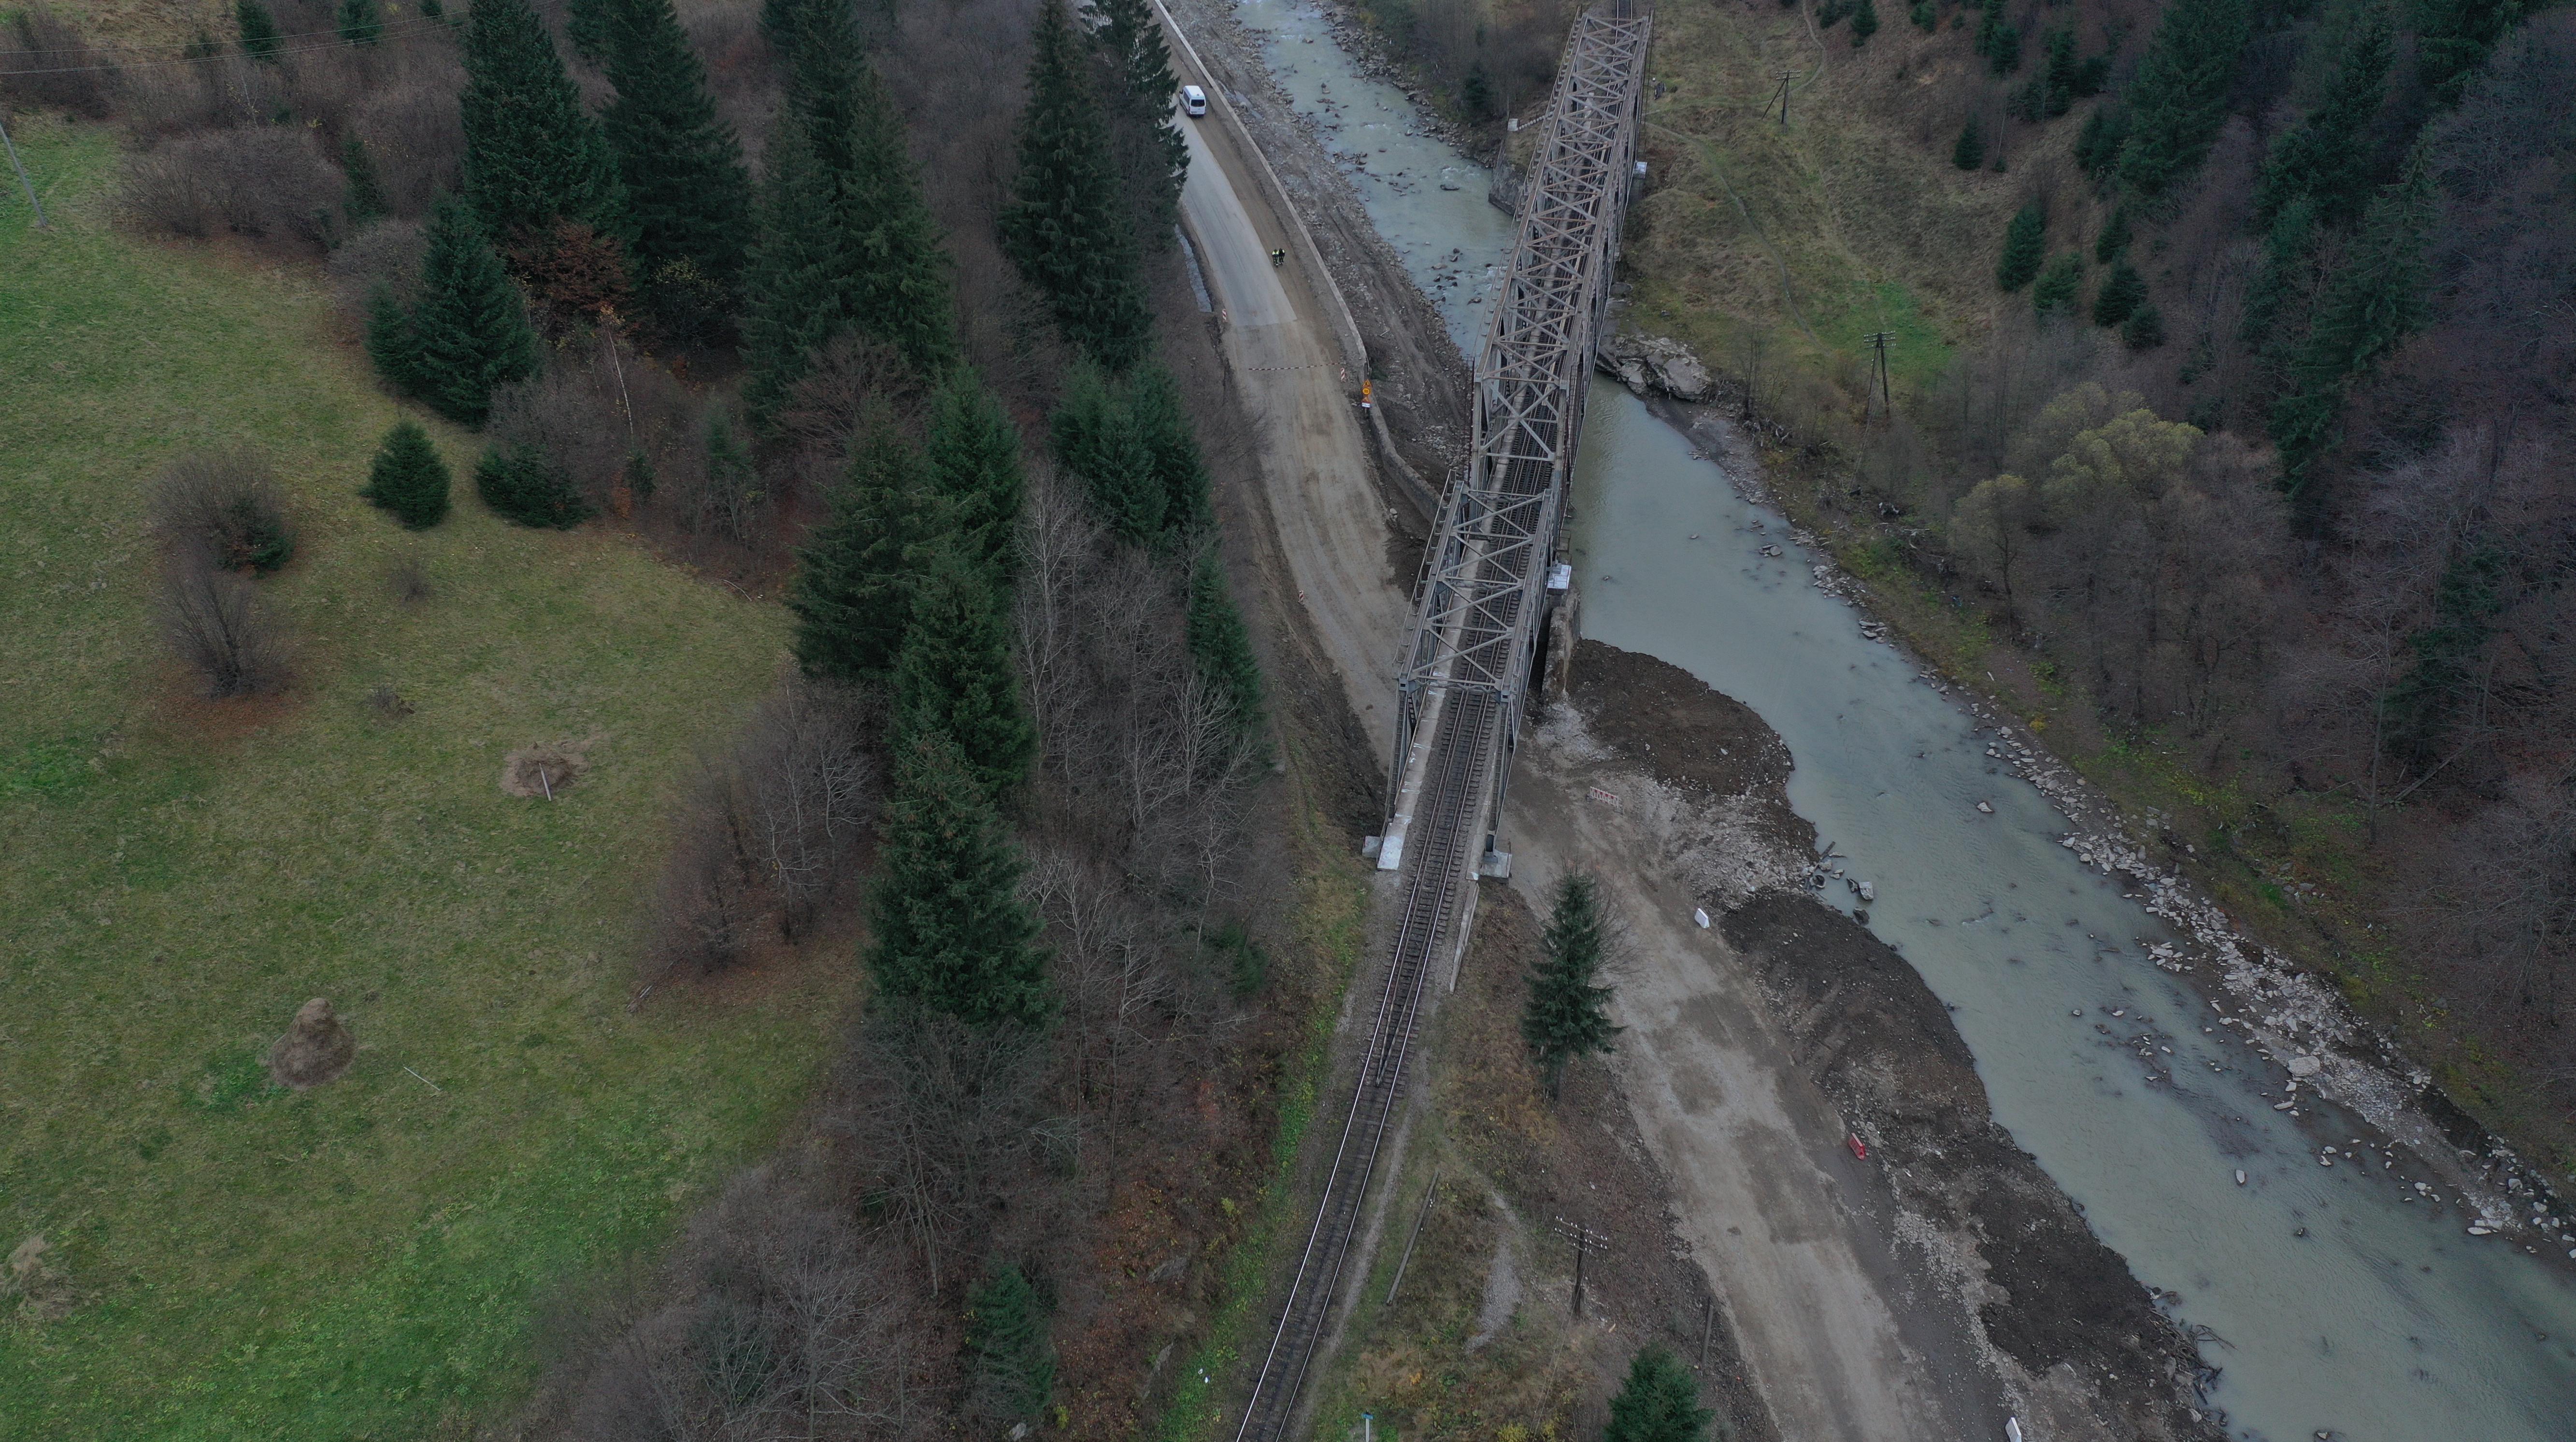
{"label": "brown earth strip between the upper dirt road and the river", "polygon": [[[1278,170],[1316,250],[1324,252],[1324,265],[1360,324],[1396,451],[1422,484],[1437,492],[1448,466],[1466,448],[1466,399],[1473,384],[1466,358],[1450,345],[1440,314],[1404,273],[1394,247],[1370,224],[1350,180],[1270,77],[1260,39],[1234,21],[1231,5],[1170,0],[1170,10],[1188,31],[1198,59],[1236,100],[1252,142]],[[1388,494],[1401,494],[1401,487],[1391,484]]]}

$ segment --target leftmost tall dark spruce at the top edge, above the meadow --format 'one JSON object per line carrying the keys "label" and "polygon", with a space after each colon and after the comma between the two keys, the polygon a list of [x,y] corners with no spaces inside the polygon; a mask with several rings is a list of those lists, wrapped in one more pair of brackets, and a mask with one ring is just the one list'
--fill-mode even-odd
{"label": "leftmost tall dark spruce at the top edge, above the meadow", "polygon": [[618,234],[608,139],[528,0],[474,0],[464,52],[466,198],[492,239],[510,245],[556,221]]}

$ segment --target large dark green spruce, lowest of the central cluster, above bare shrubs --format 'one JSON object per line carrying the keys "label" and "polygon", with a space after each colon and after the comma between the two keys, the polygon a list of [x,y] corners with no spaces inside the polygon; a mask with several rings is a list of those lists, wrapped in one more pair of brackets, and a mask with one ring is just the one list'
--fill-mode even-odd
{"label": "large dark green spruce, lowest of the central cluster, above bare shrubs", "polygon": [[1020,901],[1025,865],[945,731],[899,736],[878,837],[876,994],[979,1027],[1043,1025],[1054,997],[1038,919]]}

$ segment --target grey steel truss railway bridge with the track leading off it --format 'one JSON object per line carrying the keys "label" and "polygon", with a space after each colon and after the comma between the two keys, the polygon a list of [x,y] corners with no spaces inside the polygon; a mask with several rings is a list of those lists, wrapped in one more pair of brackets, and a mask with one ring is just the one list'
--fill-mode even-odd
{"label": "grey steel truss railway bridge with the track leading off it", "polygon": [[1556,70],[1520,196],[1520,239],[1476,358],[1473,440],[1440,500],[1396,662],[1401,708],[1378,868],[1404,873],[1401,914],[1332,1172],[1236,1442],[1285,1442],[1296,1421],[1378,1146],[1404,1097],[1427,976],[1435,955],[1466,948],[1476,873],[1499,870],[1494,821],[1535,680],[1551,572],[1564,574],[1558,520],[1638,173],[1649,31],[1638,0],[1605,0],[1574,23]]}

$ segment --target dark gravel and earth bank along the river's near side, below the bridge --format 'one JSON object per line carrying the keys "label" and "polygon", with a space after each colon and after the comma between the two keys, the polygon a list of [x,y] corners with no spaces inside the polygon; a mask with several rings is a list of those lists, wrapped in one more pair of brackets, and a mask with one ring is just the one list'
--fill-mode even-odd
{"label": "dark gravel and earth bank along the river's near side, below the bridge", "polygon": [[[1803,870],[1814,832],[1788,809],[1788,749],[1747,706],[1597,641],[1577,649],[1571,700],[1613,765],[1685,806],[1757,816],[1726,834],[1783,852],[1759,876]],[[1914,968],[1803,888],[1770,881],[1728,899],[1703,883],[1700,899],[1713,912],[1734,901],[1718,917],[1731,960],[1757,981],[1793,1066],[1870,1146],[1855,1203],[1909,1272],[1896,1285],[1911,1306],[1947,1298],[1932,1311],[1955,1308],[1984,1334],[1978,1352],[2020,1372],[2004,1380],[2025,1424],[2045,1419],[2048,1434],[2215,1439],[2195,1406],[2192,1342],[1994,1123],[1965,1040]]]}

